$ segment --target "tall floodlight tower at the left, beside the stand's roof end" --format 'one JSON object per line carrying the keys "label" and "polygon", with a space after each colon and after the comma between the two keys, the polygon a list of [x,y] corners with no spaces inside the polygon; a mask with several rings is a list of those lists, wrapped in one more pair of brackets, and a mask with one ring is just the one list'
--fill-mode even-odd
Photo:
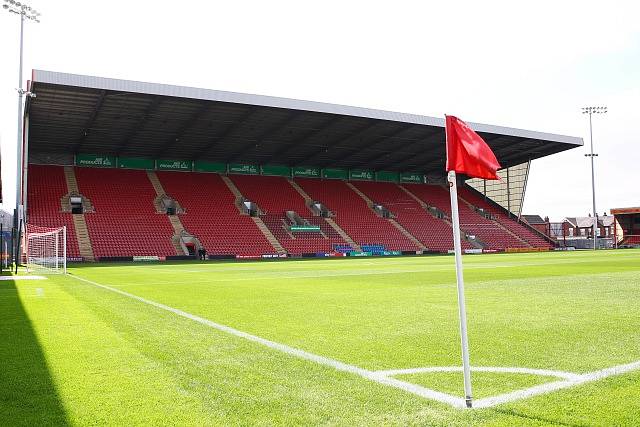
{"label": "tall floodlight tower at the left, beside the stand's roof end", "polygon": [[[16,170],[16,212],[18,215],[22,215],[20,212],[20,206],[22,205],[22,167],[23,167],[23,153],[22,153],[22,103],[23,96],[30,96],[35,98],[35,94],[27,92],[22,88],[22,57],[23,57],[23,40],[24,40],[24,21],[28,19],[33,22],[40,22],[40,13],[33,9],[31,6],[21,3],[15,0],[4,0],[2,8],[11,13],[15,13],[20,16],[20,67],[18,73],[18,159]],[[18,221],[20,218],[18,218]]]}

